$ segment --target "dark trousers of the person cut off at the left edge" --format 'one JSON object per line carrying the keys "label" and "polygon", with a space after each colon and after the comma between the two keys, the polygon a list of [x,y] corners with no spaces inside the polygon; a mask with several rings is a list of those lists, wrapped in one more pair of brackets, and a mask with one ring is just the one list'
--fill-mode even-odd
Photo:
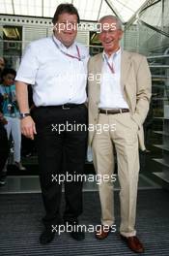
{"label": "dark trousers of the person cut off at the left edge", "polygon": [[9,143],[4,125],[0,122],[0,177],[9,154]]}

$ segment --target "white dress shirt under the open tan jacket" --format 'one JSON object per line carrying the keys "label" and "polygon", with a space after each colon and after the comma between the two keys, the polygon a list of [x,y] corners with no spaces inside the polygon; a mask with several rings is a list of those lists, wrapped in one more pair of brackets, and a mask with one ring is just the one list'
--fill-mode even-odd
{"label": "white dress shirt under the open tan jacket", "polygon": [[121,49],[113,53],[109,58],[106,55],[110,66],[113,66],[114,73],[111,72],[105,55],[103,51],[99,109],[128,109],[121,86]]}

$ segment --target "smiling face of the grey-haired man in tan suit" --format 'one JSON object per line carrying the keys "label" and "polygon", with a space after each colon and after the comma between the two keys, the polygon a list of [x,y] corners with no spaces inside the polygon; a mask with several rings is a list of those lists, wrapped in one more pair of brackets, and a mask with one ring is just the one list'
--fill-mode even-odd
{"label": "smiling face of the grey-haired man in tan suit", "polygon": [[100,22],[99,41],[108,55],[120,48],[122,36],[123,31],[118,28],[116,20],[112,17],[106,17]]}

